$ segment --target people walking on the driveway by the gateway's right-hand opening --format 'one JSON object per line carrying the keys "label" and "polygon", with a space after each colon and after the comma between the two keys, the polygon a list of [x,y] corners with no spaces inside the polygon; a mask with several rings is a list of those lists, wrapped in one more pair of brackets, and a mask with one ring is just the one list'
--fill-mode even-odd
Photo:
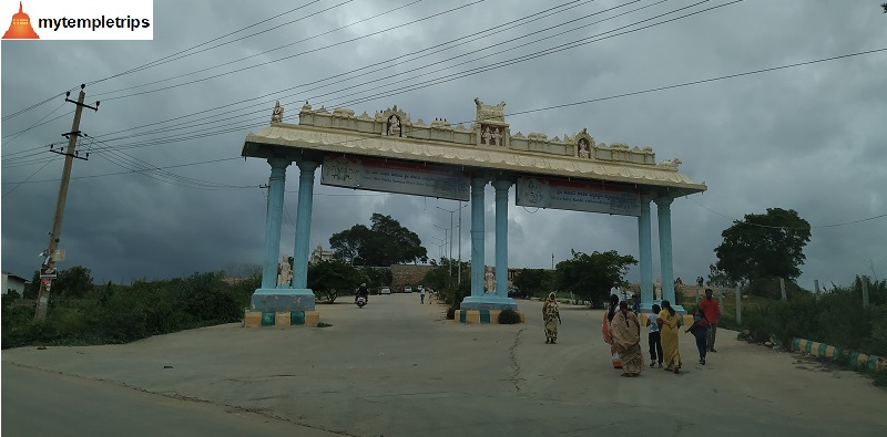
{"label": "people walking on the driveway by the gateway's right-hand opening", "polygon": [[[700,353],[700,364],[705,365],[708,352],[714,348],[717,322],[721,308],[713,299],[711,289],[705,290],[705,299],[700,302],[693,315],[693,323],[685,329],[695,337]],[[554,344],[558,339],[558,324],[561,323],[558,302],[554,293],[550,293],[542,305],[542,318],[546,326],[546,344]],[[683,316],[672,308],[671,302],[662,301],[662,306],[654,304],[646,314],[644,325],[649,327],[650,367],[664,368],[679,374],[681,372],[681,353],[679,350],[679,330],[683,327]],[[610,356],[614,368],[622,370],[622,376],[640,376],[644,368],[641,351],[641,322],[629,304],[619,295],[610,296],[608,311],[602,321],[603,339],[610,345]],[[664,364],[664,367],[663,367]]]}

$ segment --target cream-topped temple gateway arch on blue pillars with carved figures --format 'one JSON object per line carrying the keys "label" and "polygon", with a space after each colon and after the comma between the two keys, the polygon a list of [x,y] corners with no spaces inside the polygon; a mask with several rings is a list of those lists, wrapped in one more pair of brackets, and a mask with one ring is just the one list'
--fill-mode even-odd
{"label": "cream-topped temple gateway arch on blue pillars with carved figures", "polygon": [[[246,136],[242,155],[271,165],[262,288],[252,298],[245,325],[317,324],[314,292],[307,287],[313,191],[320,183],[354,189],[401,193],[470,201],[471,295],[460,310],[517,309],[508,298],[508,191],[516,187],[520,206],[624,215],[638,218],[641,302],[654,303],[651,201],[656,204],[662,298],[674,302],[671,204],[702,193],[679,173],[675,158],[656,163],[650,147],[599,144],[587,129],[548,138],[512,134],[504,102],[486,105],[475,98],[469,126],[446,119],[426,124],[396,105],[374,115],[353,110],[313,110],[306,102],[298,124],[283,121],[275,105],[271,125]],[[292,283],[277,287],[286,169],[298,168],[298,210]],[[496,292],[485,293],[483,199],[496,194]]]}

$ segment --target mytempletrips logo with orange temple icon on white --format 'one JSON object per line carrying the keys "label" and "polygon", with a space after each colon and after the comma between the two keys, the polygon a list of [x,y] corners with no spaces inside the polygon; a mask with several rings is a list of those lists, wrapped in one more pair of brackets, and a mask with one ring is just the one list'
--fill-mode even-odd
{"label": "mytempletrips logo with orange temple icon on white", "polygon": [[[0,20],[4,6],[0,0]],[[153,40],[153,0],[21,0],[3,40]],[[0,24],[2,25],[2,24]]]}

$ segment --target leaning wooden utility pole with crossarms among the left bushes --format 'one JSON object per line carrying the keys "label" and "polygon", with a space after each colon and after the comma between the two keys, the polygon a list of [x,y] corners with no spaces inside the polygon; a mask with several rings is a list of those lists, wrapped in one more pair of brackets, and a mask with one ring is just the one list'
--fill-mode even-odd
{"label": "leaning wooden utility pole with crossarms among the left bushes", "polygon": [[57,275],[55,251],[59,249],[59,239],[62,233],[62,218],[64,217],[64,202],[68,199],[68,183],[71,180],[71,166],[73,165],[74,158],[83,160],[89,158],[89,155],[81,157],[75,152],[77,139],[80,137],[80,115],[83,113],[83,107],[89,107],[95,112],[99,111],[99,102],[95,102],[95,106],[90,106],[83,103],[83,101],[86,98],[86,94],[83,92],[83,89],[85,87],[86,85],[80,85],[80,96],[78,97],[77,102],[68,98],[71,96],[70,91],[64,97],[65,102],[77,105],[77,110],[74,111],[74,122],[71,124],[71,132],[62,134],[68,138],[68,150],[62,153],[52,150],[50,148],[51,152],[64,155],[64,168],[62,169],[62,180],[59,184],[59,197],[55,200],[55,216],[52,219],[52,231],[49,235],[49,248],[41,253],[41,257],[43,257],[43,262],[40,266],[40,292],[37,296],[37,310],[34,311],[35,321],[41,321],[47,318],[49,293],[52,288],[52,280],[55,279]]}

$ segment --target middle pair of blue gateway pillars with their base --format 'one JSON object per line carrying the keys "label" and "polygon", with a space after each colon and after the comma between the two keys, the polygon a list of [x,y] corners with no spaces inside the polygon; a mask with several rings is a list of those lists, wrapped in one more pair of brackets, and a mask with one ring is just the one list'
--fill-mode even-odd
{"label": "middle pair of blue gateway pillars with their base", "polygon": [[[471,179],[471,295],[459,304],[460,310],[517,310],[508,296],[508,188],[511,183],[497,180],[496,187],[496,292],[483,293],[483,188],[487,179]],[[501,200],[500,200],[501,199]]]}

